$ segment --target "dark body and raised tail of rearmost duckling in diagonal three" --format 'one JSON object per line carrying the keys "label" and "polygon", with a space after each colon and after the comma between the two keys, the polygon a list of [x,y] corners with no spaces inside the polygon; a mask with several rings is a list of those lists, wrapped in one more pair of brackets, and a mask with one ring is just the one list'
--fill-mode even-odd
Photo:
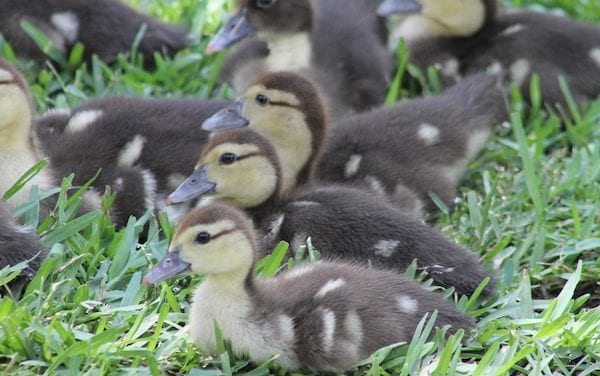
{"label": "dark body and raised tail of rearmost duckling in diagonal three", "polygon": [[436,97],[357,115],[334,126],[317,162],[322,181],[362,182],[392,201],[416,195],[434,211],[433,192],[452,207],[469,162],[506,119],[494,77],[471,76]]}

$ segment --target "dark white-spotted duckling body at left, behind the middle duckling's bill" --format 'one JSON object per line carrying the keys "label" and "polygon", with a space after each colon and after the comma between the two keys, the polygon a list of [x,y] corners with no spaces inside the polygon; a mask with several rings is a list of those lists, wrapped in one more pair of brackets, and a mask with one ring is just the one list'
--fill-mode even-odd
{"label": "dark white-spotted duckling body at left, behind the middle duckling's bill", "polygon": [[[189,175],[208,132],[200,124],[229,101],[106,97],[37,119],[35,130],[50,166],[83,184],[117,191],[115,210],[127,220],[164,209],[166,195]],[[177,221],[182,213],[171,212]],[[124,218],[123,218],[124,217]]]}

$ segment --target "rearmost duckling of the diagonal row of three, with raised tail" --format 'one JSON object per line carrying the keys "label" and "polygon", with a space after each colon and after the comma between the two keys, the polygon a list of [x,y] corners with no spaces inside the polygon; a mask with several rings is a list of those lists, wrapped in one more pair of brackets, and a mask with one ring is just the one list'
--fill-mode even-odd
{"label": "rearmost duckling of the diagonal row of three, with raised tail", "polygon": [[507,116],[496,78],[478,74],[443,95],[372,110],[334,122],[326,131],[326,119],[314,116],[318,91],[300,82],[306,80],[294,73],[266,75],[235,108],[215,114],[203,128],[249,125],[265,135],[281,159],[284,192],[295,186],[288,172],[302,165],[310,177],[314,166],[316,180],[366,185],[418,216],[437,209],[429,192],[452,207],[468,163]]}

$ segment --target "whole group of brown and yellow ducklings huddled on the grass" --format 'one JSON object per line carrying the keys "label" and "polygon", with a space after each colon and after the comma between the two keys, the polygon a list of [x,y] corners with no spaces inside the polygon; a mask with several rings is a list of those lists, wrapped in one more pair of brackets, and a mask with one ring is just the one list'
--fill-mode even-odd
{"label": "whole group of brown and yellow ducklings huddled on the grass", "polygon": [[[239,0],[207,52],[236,44],[221,78],[236,101],[105,97],[34,116],[27,82],[0,59],[0,195],[38,161],[49,163],[0,202],[0,268],[45,250],[10,211],[74,174],[91,181],[81,212],[116,193],[115,225],[147,211],[179,222],[148,284],[206,275],[194,295],[190,335],[217,349],[215,322],[236,355],[290,369],[344,371],[383,346],[409,341],[437,311],[438,326],[473,320],[407,280],[416,263],[434,284],[496,292],[472,252],[423,221],[452,208],[469,163],[507,120],[510,84],[525,94],[540,76],[548,104],[600,95],[600,29],[563,17],[502,12],[496,0]],[[442,94],[383,107],[393,73],[386,19],[406,15],[392,37],[409,60],[438,68]],[[139,50],[174,52],[185,32],[115,0],[4,1],[0,33],[23,56],[43,53],[27,21],[62,52],[114,61],[140,27]],[[83,27],[85,25],[85,27]],[[113,37],[114,35],[114,37]],[[39,197],[39,196],[38,196]],[[41,217],[56,198],[43,196]],[[216,200],[217,203],[206,201]],[[249,223],[252,220],[253,225]],[[279,242],[307,239],[322,261],[256,278]],[[483,285],[482,285],[483,284]]]}

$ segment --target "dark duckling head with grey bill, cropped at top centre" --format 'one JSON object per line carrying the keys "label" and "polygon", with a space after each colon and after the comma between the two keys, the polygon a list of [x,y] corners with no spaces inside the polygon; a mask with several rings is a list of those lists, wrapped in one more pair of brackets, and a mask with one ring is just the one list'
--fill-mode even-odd
{"label": "dark duckling head with grey bill, cropped at top centre", "polygon": [[221,51],[257,34],[269,40],[287,33],[308,32],[312,27],[309,0],[241,0],[237,12],[211,39],[207,53]]}

